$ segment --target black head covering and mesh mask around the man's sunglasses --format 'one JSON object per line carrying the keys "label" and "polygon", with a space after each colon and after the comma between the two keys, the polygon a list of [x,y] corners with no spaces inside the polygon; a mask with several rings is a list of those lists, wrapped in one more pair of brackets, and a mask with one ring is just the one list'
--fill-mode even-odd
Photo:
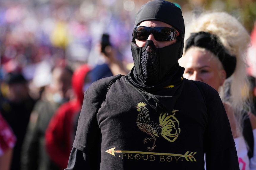
{"label": "black head covering and mesh mask around the man's sunglasses", "polygon": [[183,37],[176,39],[176,43],[163,48],[156,48],[151,40],[146,41],[145,46],[141,48],[136,45],[133,38],[131,49],[135,71],[143,84],[152,85],[168,75],[181,58],[185,26],[181,9],[163,0],[153,0],[143,4],[138,12],[135,26],[148,20],[165,22],[177,29]]}

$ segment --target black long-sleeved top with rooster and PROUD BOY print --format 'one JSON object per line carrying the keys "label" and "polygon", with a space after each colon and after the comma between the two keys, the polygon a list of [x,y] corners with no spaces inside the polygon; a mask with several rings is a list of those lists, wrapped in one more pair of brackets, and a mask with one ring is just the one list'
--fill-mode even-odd
{"label": "black long-sleeved top with rooster and PROUD BOY print", "polygon": [[183,71],[174,69],[170,80],[150,88],[132,71],[107,93],[113,77],[94,82],[84,95],[67,170],[203,170],[204,153],[207,169],[238,170],[218,92],[203,82],[198,88]]}

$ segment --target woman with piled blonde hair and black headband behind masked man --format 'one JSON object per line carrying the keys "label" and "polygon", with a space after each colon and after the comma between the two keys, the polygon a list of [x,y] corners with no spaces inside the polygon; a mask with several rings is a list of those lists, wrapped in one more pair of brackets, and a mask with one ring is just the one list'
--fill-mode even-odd
{"label": "woman with piled blonde hair and black headband behind masked man", "polygon": [[184,78],[205,82],[219,92],[236,143],[240,169],[256,169],[256,118],[251,113],[244,60],[250,36],[226,12],[201,14],[187,29],[184,54],[179,60],[185,67]]}

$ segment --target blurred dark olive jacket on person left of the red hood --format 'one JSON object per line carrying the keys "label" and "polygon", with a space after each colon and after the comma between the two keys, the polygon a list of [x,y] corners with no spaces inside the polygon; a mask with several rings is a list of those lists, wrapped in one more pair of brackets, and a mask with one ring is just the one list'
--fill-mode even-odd
{"label": "blurred dark olive jacket on person left of the red hood", "polygon": [[21,170],[59,170],[45,150],[45,131],[60,103],[40,99],[30,116],[21,153]]}

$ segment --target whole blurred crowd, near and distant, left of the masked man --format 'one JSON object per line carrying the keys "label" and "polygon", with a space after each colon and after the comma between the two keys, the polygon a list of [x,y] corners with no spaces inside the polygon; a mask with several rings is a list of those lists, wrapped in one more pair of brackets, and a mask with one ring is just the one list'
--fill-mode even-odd
{"label": "whole blurred crowd, near and distant, left of the masked man", "polygon": [[[0,116],[14,133],[8,133],[12,170],[67,167],[83,92],[133,66],[132,2],[116,9],[115,0],[0,1]],[[104,33],[110,44],[103,53]],[[255,55],[253,30],[248,55],[253,88]]]}

